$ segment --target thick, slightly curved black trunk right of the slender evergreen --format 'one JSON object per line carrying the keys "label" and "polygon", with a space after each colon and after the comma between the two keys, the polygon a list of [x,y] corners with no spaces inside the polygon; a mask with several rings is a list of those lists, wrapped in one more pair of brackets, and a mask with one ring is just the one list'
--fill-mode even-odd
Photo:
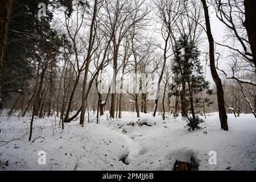
{"label": "thick, slightly curved black trunk right of the slender evergreen", "polygon": [[203,3],[205,24],[207,27],[207,36],[209,41],[210,72],[212,73],[212,77],[217,88],[218,113],[219,113],[220,122],[221,122],[221,129],[228,131],[229,130],[228,116],[226,115],[225,104],[224,104],[224,91],[223,91],[221,79],[218,76],[218,73],[215,67],[214,39],[212,36],[212,30],[210,28],[208,6],[205,0],[201,0],[201,2]]}

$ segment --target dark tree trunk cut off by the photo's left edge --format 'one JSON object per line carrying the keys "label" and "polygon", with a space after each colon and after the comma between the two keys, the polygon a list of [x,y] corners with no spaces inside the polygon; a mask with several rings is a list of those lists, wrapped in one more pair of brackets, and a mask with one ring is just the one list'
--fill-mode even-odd
{"label": "dark tree trunk cut off by the photo's left edge", "polygon": [[1,85],[2,85],[2,67],[3,56],[5,53],[5,45],[7,42],[7,34],[11,11],[13,10],[13,0],[2,0],[0,3],[0,110],[3,107]]}

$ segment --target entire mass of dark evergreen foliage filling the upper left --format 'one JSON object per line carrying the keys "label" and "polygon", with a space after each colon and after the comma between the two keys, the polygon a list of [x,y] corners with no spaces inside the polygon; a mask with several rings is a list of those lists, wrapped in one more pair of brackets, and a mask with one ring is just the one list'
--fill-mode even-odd
{"label": "entire mass of dark evergreen foliage filling the upper left", "polygon": [[[70,49],[65,36],[51,28],[51,11],[47,9],[45,16],[38,17],[38,4],[49,5],[50,2],[14,1],[3,59],[2,90],[20,89],[23,93],[30,93],[34,89],[36,69],[52,63],[53,73],[56,73],[59,49],[64,46]],[[49,72],[51,69],[47,76]],[[11,94],[5,93],[5,100],[9,100]]]}

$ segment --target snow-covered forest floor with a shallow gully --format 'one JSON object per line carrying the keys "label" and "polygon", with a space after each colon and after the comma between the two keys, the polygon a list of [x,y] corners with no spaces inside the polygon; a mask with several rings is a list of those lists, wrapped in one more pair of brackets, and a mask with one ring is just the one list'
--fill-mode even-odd
{"label": "snow-covered forest floor with a shallow gully", "polygon": [[[229,131],[220,130],[218,113],[208,114],[203,129],[188,131],[185,121],[172,115],[163,121],[160,115],[141,113],[138,119],[123,112],[122,119],[112,121],[105,114],[100,125],[81,127],[75,121],[64,130],[52,116],[35,119],[28,142],[30,117],[7,117],[4,111],[0,170],[172,170],[176,160],[189,162],[191,155],[199,170],[256,170],[256,119],[251,114],[228,117]],[[46,164],[38,164],[39,151],[46,152]],[[209,164],[210,151],[216,152],[217,164]]]}

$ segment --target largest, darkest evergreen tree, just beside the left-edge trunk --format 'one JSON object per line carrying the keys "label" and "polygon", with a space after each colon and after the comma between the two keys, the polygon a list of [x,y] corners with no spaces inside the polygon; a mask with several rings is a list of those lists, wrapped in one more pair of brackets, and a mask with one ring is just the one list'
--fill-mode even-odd
{"label": "largest, darkest evergreen tree, just beside the left-edge trunk", "polygon": [[38,4],[42,2],[47,4],[48,0],[14,1],[3,59],[2,90],[26,91],[29,88],[28,81],[34,77],[39,44],[45,42],[51,32],[52,13],[47,11],[46,16],[38,18]]}

